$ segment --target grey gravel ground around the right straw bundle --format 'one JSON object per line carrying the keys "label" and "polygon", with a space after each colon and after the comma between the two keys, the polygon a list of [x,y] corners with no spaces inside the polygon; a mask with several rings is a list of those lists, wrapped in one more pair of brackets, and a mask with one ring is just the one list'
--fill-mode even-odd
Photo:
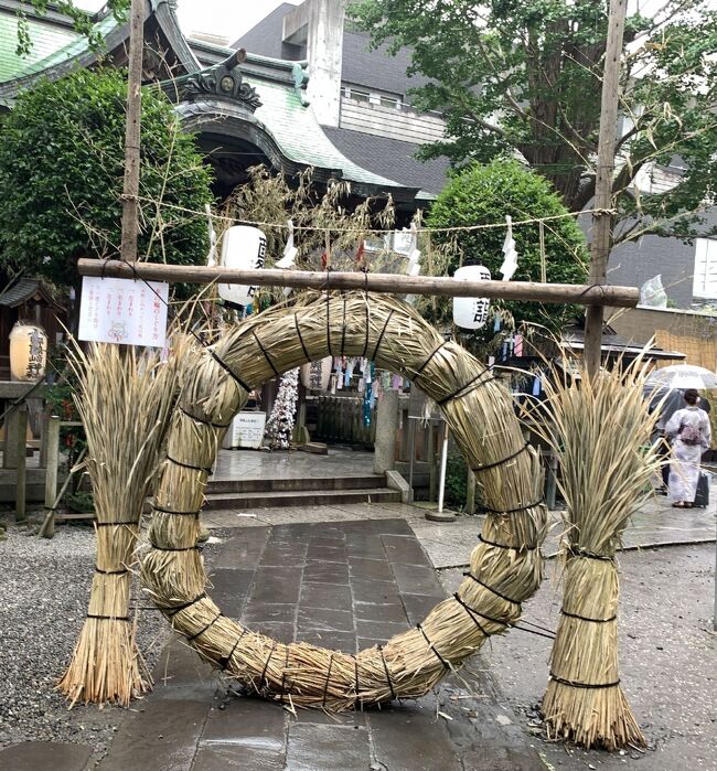
{"label": "grey gravel ground around the right straw bundle", "polygon": [[[586,752],[542,739],[537,705],[545,692],[550,641],[513,630],[494,638],[480,661],[516,719],[555,769],[717,770],[717,633],[713,631],[715,545],[627,552],[620,556],[620,671],[648,750]],[[548,567],[524,618],[555,629],[560,588]],[[447,570],[454,591],[462,575]]]}

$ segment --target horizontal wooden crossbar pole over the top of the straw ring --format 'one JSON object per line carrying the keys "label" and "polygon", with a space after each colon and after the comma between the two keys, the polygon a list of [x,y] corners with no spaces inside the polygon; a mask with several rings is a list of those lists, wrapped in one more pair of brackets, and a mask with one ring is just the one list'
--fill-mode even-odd
{"label": "horizontal wooden crossbar pole over the top of the straw ring", "polygon": [[138,278],[148,281],[185,283],[243,283],[254,287],[295,289],[365,289],[392,295],[436,295],[441,297],[489,297],[502,300],[556,302],[579,306],[634,308],[640,299],[636,287],[588,286],[580,283],[537,283],[533,281],[457,281],[436,276],[398,276],[304,270],[234,270],[222,267],[164,265],[83,258],[77,261],[82,276]]}

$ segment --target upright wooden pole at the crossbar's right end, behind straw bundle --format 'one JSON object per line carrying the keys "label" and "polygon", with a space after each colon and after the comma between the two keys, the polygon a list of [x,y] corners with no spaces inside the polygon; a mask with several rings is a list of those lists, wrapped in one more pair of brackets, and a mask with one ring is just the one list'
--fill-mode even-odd
{"label": "upright wooden pole at the crossbar's right end, behind straw bundle", "polygon": [[[602,73],[600,106],[600,136],[598,139],[598,170],[595,183],[592,242],[590,245],[591,285],[604,285],[608,277],[608,257],[612,244],[612,174],[618,125],[618,93],[620,89],[620,57],[628,0],[610,0],[608,41]],[[600,368],[602,347],[602,306],[589,306],[585,324],[585,362],[590,376]]]}

